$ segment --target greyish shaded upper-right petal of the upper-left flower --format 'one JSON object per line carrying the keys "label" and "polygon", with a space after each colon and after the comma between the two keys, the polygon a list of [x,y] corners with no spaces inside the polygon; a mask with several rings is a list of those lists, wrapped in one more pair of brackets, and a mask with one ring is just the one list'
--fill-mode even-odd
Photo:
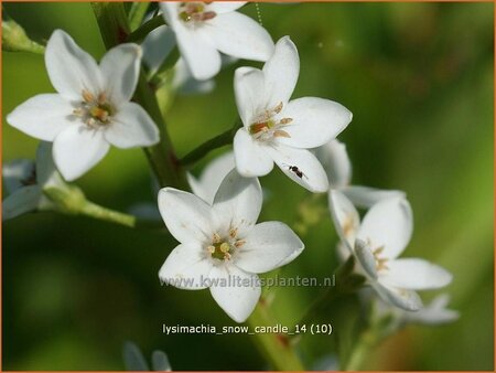
{"label": "greyish shaded upper-right petal of the upper-left flower", "polygon": [[100,62],[105,93],[118,109],[120,103],[129,102],[134,93],[140,76],[141,54],[138,44],[120,44],[108,51]]}

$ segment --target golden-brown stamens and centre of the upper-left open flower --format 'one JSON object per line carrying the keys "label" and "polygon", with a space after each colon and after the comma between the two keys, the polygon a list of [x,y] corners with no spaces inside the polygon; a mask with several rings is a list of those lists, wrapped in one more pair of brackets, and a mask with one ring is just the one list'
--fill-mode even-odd
{"label": "golden-brown stamens and centre of the upper-left open flower", "polygon": [[80,117],[90,128],[105,127],[110,124],[110,117],[115,114],[114,106],[107,100],[105,93],[98,96],[88,90],[83,90],[83,100],[73,114]]}

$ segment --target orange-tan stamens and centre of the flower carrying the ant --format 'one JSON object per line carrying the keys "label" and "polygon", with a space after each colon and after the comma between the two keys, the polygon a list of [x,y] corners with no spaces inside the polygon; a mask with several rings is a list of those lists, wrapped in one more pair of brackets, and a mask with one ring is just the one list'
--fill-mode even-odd
{"label": "orange-tan stamens and centre of the flower carrying the ant", "polygon": [[280,103],[273,109],[266,110],[250,125],[248,131],[256,140],[270,141],[276,137],[291,137],[283,128],[293,119],[277,119],[277,116],[282,111],[282,103]]}

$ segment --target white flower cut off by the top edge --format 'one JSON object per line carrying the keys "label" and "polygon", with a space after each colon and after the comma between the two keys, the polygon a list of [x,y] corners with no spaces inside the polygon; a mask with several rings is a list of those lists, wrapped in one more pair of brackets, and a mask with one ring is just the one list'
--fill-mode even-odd
{"label": "white flower cut off by the top edge", "polygon": [[246,2],[161,2],[166,23],[175,33],[181,55],[193,76],[204,81],[220,70],[220,53],[267,61],[273,52],[269,33],[237,12]]}

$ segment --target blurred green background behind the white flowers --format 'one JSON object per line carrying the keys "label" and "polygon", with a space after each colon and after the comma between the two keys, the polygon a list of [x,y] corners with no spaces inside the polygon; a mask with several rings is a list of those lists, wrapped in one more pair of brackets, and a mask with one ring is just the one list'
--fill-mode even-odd
{"label": "blurred green background behind the white flowers", "polygon": [[[289,34],[299,47],[301,74],[293,97],[331,98],[353,111],[339,139],[353,161],[354,183],[408,193],[416,231],[405,255],[454,274],[448,291],[461,319],[407,328],[369,355],[367,369],[494,369],[493,7],[259,3],[272,38]],[[3,8],[34,40],[46,41],[61,28],[94,56],[104,53],[88,3]],[[242,11],[257,19],[255,4]],[[42,56],[3,53],[2,58],[4,119],[17,105],[53,88]],[[212,94],[175,99],[166,120],[180,156],[236,119],[236,66],[220,73]],[[36,140],[4,120],[2,136],[4,161],[34,157]],[[309,193],[280,171],[261,182],[271,198],[260,220],[294,225]],[[112,149],[77,184],[93,201],[122,211],[155,201],[139,149]],[[175,245],[165,231],[53,213],[9,221],[2,231],[4,370],[121,370],[126,340],[147,356],[164,350],[174,370],[267,367],[246,335],[161,333],[162,323],[231,324],[207,290],[160,286],[158,270]],[[330,276],[337,262],[327,214],[303,241],[306,251],[284,275]],[[317,292],[278,289],[274,312],[291,326]],[[332,311],[319,320],[339,329]],[[311,365],[334,347],[334,334],[308,335],[301,353]]]}

